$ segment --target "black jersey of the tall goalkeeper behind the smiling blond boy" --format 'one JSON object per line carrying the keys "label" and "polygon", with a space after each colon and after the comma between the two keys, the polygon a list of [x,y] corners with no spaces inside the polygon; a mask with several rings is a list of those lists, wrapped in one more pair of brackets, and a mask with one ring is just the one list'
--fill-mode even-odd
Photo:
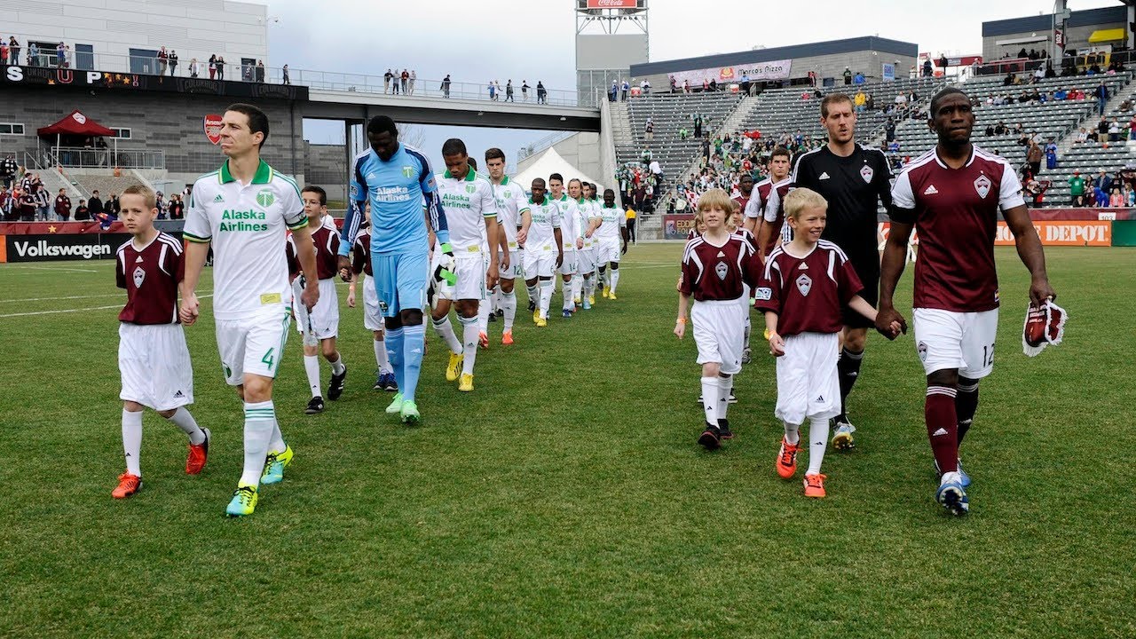
{"label": "black jersey of the tall goalkeeper behind the smiling blond boy", "polygon": [[885,209],[892,205],[892,167],[884,152],[855,144],[845,158],[826,144],[802,153],[790,180],[793,188],[812,189],[828,200],[821,238],[844,250],[861,279],[878,279],[877,214],[879,202]]}

